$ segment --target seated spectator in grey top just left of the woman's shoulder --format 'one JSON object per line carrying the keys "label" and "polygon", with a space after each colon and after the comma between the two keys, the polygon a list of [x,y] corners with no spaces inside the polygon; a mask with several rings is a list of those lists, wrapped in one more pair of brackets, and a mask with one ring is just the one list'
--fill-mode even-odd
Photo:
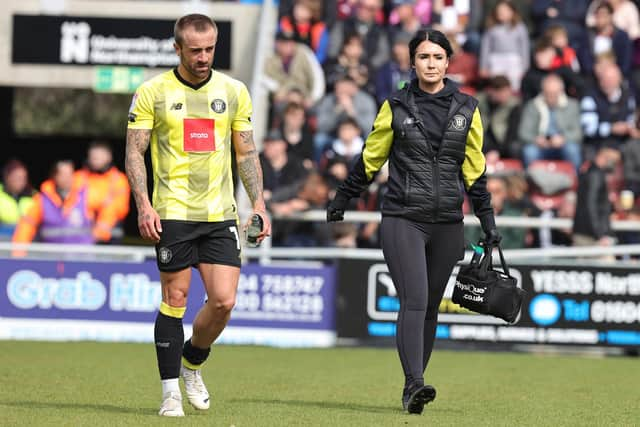
{"label": "seated spectator in grey top just left of the woman's shoulder", "polygon": [[333,93],[325,95],[316,108],[317,133],[314,138],[316,159],[320,159],[323,148],[333,140],[331,133],[344,117],[352,117],[362,131],[369,131],[376,117],[376,101],[371,95],[358,89],[349,76],[336,81]]}

